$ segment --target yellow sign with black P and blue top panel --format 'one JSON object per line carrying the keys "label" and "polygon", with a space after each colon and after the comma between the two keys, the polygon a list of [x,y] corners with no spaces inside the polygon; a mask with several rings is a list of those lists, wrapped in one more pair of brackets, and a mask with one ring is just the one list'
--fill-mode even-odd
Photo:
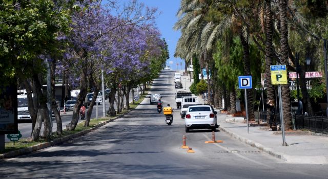
{"label": "yellow sign with black P and blue top panel", "polygon": [[287,84],[286,65],[271,65],[271,84]]}

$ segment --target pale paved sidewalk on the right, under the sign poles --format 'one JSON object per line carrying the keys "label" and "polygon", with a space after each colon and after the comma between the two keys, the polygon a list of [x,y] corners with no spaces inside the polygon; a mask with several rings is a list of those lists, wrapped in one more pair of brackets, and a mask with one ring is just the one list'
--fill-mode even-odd
{"label": "pale paved sidewalk on the right, under the sign poles", "polygon": [[328,164],[328,137],[305,134],[285,135],[288,146],[282,145],[280,131],[268,131],[263,127],[249,127],[243,118],[234,121],[230,115],[217,114],[219,130],[259,150],[293,164]]}

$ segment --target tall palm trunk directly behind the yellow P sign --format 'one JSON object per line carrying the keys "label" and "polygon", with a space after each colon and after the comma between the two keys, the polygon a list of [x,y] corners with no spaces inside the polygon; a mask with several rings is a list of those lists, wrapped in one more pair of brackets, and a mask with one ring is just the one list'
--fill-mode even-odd
{"label": "tall palm trunk directly behind the yellow P sign", "polygon": [[[279,0],[279,14],[280,14],[280,51],[282,64],[288,64],[288,21],[287,21],[287,1]],[[289,84],[282,85],[282,109],[285,129],[292,128],[292,116],[291,116],[291,100],[290,100],[290,88]]]}

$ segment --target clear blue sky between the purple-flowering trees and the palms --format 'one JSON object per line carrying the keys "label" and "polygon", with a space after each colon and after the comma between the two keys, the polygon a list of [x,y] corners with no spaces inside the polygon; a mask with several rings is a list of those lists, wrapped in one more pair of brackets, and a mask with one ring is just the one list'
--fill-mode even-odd
{"label": "clear blue sky between the purple-flowering trees and the palms", "polygon": [[[185,61],[180,58],[174,58],[174,52],[176,43],[180,37],[180,31],[173,30],[173,26],[177,21],[175,14],[177,13],[180,7],[179,0],[139,0],[140,3],[144,3],[148,7],[158,8],[158,11],[161,12],[158,18],[156,19],[156,25],[159,31],[162,34],[162,38],[165,38],[168,46],[170,59],[167,60],[167,65],[171,67],[172,70],[184,69]],[[173,64],[169,64],[169,61],[173,61]],[[180,63],[182,62],[182,66]],[[176,63],[179,65],[177,66]]]}

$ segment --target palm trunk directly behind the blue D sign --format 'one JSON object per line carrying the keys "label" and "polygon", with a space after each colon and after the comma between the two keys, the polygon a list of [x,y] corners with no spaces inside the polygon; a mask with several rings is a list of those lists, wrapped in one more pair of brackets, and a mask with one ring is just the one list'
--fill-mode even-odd
{"label": "palm trunk directly behind the blue D sign", "polygon": [[[252,76],[251,73],[251,60],[250,60],[250,48],[248,44],[248,40],[245,39],[240,31],[240,39],[243,48],[243,65],[244,65],[244,74]],[[254,103],[253,103],[253,89],[247,89],[247,106],[248,106],[248,117],[251,121],[254,121]]]}

